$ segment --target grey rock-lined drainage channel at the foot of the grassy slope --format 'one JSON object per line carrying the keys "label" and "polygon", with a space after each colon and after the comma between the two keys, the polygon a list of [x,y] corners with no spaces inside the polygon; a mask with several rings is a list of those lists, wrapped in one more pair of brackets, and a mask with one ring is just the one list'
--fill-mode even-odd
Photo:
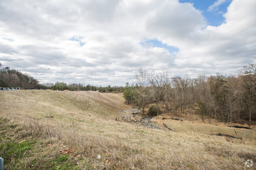
{"label": "grey rock-lined drainage channel at the foot of the grassy slope", "polygon": [[154,124],[151,121],[146,121],[144,119],[141,119],[137,115],[141,112],[141,109],[130,108],[126,110],[119,110],[118,112],[120,115],[122,115],[122,121],[130,122],[131,124],[136,124],[138,126],[143,126],[145,128],[161,129],[157,124]]}

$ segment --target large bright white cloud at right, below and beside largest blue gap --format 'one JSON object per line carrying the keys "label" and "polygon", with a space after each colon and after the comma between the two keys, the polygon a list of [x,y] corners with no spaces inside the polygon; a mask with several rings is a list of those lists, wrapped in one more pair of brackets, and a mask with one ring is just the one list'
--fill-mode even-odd
{"label": "large bright white cloud at right, below and beside largest blue gap", "polygon": [[[236,73],[237,68],[256,61],[256,12],[253,0],[233,0],[224,14],[225,23],[218,27],[207,26],[198,32],[200,39],[180,49],[178,66],[209,65],[209,72]],[[236,67],[234,67],[236,66]],[[205,69],[203,69],[205,70]],[[225,71],[226,70],[226,71]],[[196,71],[193,71],[196,73]],[[230,72],[228,72],[230,73]]]}

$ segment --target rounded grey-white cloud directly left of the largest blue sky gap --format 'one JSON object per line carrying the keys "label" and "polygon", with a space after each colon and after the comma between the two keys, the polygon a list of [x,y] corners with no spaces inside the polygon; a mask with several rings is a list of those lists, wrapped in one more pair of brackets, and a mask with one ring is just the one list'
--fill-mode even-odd
{"label": "rounded grey-white cloud directly left of the largest blue sky gap", "polygon": [[192,4],[169,1],[158,5],[147,18],[146,26],[147,30],[157,37],[168,35],[171,39],[184,40],[204,28],[206,22],[200,11]]}

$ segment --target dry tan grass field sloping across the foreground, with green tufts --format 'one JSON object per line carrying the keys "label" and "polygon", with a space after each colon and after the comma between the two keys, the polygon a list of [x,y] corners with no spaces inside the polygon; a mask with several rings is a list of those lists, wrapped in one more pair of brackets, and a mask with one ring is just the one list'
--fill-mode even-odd
{"label": "dry tan grass field sloping across the foreground, with green tufts", "polygon": [[[256,169],[256,129],[186,121],[177,131],[143,128],[119,118],[122,94],[96,91],[0,92],[0,157],[20,170],[243,170]],[[161,118],[161,116],[160,116]],[[246,132],[246,141],[243,132]],[[211,134],[242,137],[231,139]],[[101,155],[98,159],[98,155]],[[245,166],[252,159],[253,166]]]}

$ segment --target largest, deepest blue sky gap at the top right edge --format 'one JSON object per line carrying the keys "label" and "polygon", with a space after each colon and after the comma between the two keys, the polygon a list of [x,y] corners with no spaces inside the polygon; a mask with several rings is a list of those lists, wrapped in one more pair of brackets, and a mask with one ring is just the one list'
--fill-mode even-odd
{"label": "largest, deepest blue sky gap at the top right edge", "polygon": [[[221,1],[222,3],[216,5],[211,10],[209,7],[218,1]],[[211,26],[219,26],[224,22],[225,18],[223,17],[223,14],[227,12],[227,7],[232,0],[179,0],[179,2],[189,2],[193,4],[196,9],[202,11],[202,15]]]}

